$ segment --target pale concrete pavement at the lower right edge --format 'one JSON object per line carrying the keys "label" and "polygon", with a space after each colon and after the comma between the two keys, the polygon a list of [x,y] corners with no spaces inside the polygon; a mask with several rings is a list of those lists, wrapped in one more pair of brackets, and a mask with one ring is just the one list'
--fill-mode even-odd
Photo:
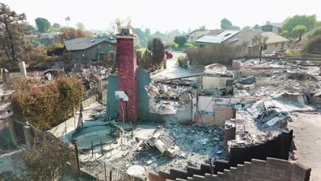
{"label": "pale concrete pavement at the lower right edge", "polygon": [[312,168],[310,180],[321,180],[321,114],[300,113],[289,128],[294,130],[298,162]]}

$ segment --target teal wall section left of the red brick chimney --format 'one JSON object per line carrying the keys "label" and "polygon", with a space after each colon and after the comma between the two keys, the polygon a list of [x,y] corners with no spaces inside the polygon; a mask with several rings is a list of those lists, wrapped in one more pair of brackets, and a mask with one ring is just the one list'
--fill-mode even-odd
{"label": "teal wall section left of the red brick chimney", "polygon": [[115,75],[109,75],[108,77],[108,90],[107,90],[107,106],[106,113],[110,119],[117,119],[119,106],[115,97],[115,92],[118,90],[118,77]]}

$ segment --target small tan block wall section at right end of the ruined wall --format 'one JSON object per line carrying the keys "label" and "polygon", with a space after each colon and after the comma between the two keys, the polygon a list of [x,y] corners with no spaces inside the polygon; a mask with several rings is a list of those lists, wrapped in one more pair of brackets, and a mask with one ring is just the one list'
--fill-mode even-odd
{"label": "small tan block wall section at right end of the ruined wall", "polygon": [[215,112],[215,121],[219,123],[223,123],[222,126],[224,126],[225,121],[229,121],[230,119],[233,119],[236,117],[236,111],[233,106],[215,106],[214,108]]}

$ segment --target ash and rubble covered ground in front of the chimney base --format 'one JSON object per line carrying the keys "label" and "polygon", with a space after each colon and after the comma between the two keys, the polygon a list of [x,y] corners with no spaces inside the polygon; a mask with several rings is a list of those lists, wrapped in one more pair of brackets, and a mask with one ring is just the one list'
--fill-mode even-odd
{"label": "ash and rubble covered ground in front of the chimney base", "polygon": [[[99,114],[95,119],[99,121],[105,119],[105,116]],[[133,130],[123,135],[123,149],[120,145],[112,145],[111,154],[105,152],[102,155],[96,151],[95,157],[123,171],[132,165],[141,165],[147,172],[168,171],[173,167],[186,169],[187,165],[200,166],[208,162],[209,156],[213,159],[225,158],[223,128],[180,124],[137,124],[132,127]],[[125,125],[125,128],[128,130],[128,125]],[[174,158],[167,158],[158,150],[139,144],[157,133],[173,138],[175,144],[180,147],[180,153]],[[104,149],[108,150],[109,146],[104,146]]]}

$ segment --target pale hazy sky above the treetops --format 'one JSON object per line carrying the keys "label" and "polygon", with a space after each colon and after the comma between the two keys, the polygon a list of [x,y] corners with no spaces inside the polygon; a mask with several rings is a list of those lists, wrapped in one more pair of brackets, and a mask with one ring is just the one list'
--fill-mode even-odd
{"label": "pale hazy sky above the treetops", "polygon": [[219,28],[220,20],[227,18],[233,25],[244,27],[283,21],[295,14],[316,14],[321,20],[321,0],[0,0],[17,13],[25,12],[27,21],[43,17],[51,24],[66,25],[64,18],[71,18],[71,26],[81,22],[86,29],[107,29],[117,17],[130,16],[134,27],[148,27],[155,32],[170,29],[195,29],[206,25]]}

